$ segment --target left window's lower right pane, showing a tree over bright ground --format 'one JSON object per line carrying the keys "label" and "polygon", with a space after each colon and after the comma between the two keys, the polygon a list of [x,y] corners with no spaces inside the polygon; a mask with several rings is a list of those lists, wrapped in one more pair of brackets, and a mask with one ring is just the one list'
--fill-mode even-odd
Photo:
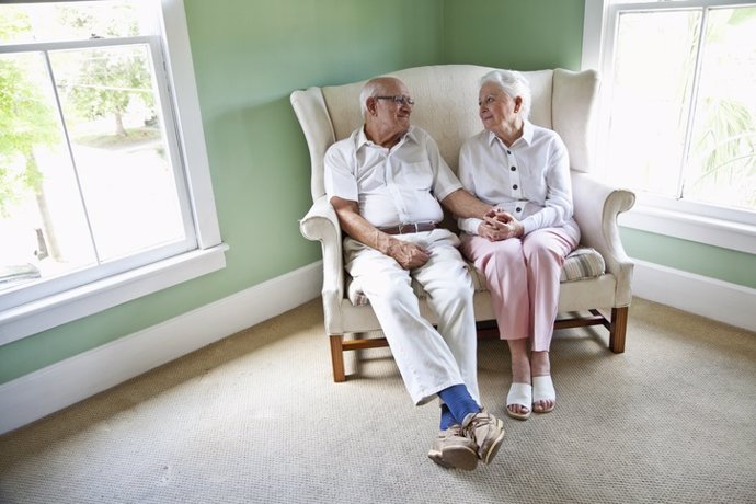
{"label": "left window's lower right pane, showing a tree over bright ground", "polygon": [[101,261],[183,240],[147,44],[50,53]]}

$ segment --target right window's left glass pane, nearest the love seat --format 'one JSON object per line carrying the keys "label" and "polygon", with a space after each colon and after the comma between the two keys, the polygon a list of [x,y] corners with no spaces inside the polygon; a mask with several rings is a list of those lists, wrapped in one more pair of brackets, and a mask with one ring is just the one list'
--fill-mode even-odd
{"label": "right window's left glass pane, nearest the love seat", "polygon": [[622,13],[608,152],[618,184],[678,197],[699,11]]}

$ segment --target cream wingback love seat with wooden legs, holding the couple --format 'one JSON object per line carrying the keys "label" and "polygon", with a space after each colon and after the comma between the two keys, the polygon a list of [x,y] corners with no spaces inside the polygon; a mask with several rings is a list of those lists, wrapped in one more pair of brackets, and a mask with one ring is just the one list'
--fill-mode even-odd
{"label": "cream wingback love seat with wooden legs, holding the couple", "polygon": [[[401,79],[415,100],[412,123],[431,134],[446,162],[456,172],[462,142],[481,130],[478,83],[493,68],[442,65],[390,73]],[[617,216],[634,204],[634,194],[609,187],[588,175],[592,163],[592,115],[598,75],[563,69],[523,72],[532,91],[530,121],[559,133],[570,152],[574,218],[581,228],[579,250],[562,274],[555,329],[604,325],[609,348],[625,351],[633,263],[620,241]],[[301,233],[319,240],[323,253],[322,301],[330,337],[334,381],[346,379],[343,352],[387,345],[376,337],[378,320],[344,271],[342,231],[323,186],[323,156],[331,144],[362,125],[358,96],[365,81],[294,91],[291,105],[301,125],[311,158],[312,207],[300,221]],[[454,226],[453,219],[447,219]],[[474,266],[474,309],[479,322],[495,321],[485,280]],[[423,299],[421,310],[431,322],[435,314]]]}

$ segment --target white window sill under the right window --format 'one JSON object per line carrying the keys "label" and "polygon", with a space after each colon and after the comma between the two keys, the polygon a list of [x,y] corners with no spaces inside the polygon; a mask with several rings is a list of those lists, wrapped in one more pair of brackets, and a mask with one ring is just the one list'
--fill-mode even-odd
{"label": "white window sill under the right window", "polygon": [[722,249],[756,254],[756,226],[674,209],[637,205],[622,214],[620,226]]}

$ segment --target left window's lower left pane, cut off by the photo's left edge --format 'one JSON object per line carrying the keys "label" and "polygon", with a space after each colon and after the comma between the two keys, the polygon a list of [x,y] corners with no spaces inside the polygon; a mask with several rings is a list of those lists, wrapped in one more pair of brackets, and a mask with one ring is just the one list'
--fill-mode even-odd
{"label": "left window's lower left pane, cut off by the photo's left edge", "polygon": [[41,53],[0,55],[0,290],[96,262]]}

